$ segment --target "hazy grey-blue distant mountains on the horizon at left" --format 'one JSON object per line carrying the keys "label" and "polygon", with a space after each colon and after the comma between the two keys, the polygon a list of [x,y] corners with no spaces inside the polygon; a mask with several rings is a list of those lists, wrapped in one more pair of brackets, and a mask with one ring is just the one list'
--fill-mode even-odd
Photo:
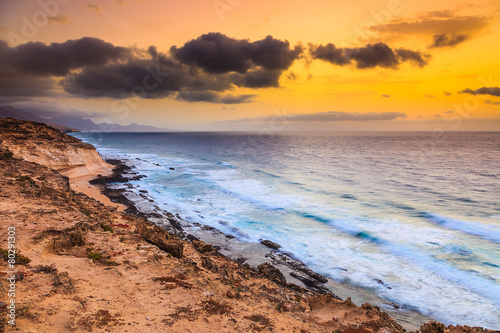
{"label": "hazy grey-blue distant mountains on the horizon at left", "polygon": [[84,119],[74,115],[60,115],[50,119],[42,118],[35,112],[27,112],[12,106],[0,106],[0,118],[15,118],[19,120],[31,120],[51,125],[63,132],[100,131],[100,132],[166,132],[167,128],[139,125],[118,125],[110,123],[96,124],[90,119]]}

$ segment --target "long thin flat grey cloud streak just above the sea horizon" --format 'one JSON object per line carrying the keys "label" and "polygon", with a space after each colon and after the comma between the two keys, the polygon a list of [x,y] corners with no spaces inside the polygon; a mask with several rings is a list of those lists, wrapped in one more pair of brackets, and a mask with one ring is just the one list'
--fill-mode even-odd
{"label": "long thin flat grey cloud streak just above the sea horizon", "polygon": [[[401,112],[340,112],[340,111],[328,111],[328,112],[316,112],[316,113],[306,113],[306,114],[291,114],[280,116],[279,120],[282,121],[302,121],[302,122],[337,122],[337,121],[383,121],[383,120],[394,120],[397,118],[406,118],[405,113]],[[260,117],[253,119],[245,119],[246,121],[276,121],[276,116],[272,117]]]}

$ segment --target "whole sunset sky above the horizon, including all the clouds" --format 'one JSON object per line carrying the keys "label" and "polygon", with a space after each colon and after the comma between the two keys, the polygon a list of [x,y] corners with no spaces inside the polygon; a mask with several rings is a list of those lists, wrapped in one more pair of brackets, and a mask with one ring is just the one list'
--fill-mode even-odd
{"label": "whole sunset sky above the horizon, including all the clouds", "polygon": [[0,0],[0,105],[179,130],[500,130],[499,1]]}

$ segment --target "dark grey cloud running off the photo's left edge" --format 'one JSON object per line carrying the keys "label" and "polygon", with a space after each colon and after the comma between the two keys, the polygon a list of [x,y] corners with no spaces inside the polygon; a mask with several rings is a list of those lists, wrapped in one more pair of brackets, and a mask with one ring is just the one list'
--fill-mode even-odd
{"label": "dark grey cloud running off the photo's left edge", "polygon": [[50,45],[28,42],[15,48],[0,41],[0,66],[23,74],[64,76],[71,70],[104,65],[128,53],[126,48],[92,37]]}

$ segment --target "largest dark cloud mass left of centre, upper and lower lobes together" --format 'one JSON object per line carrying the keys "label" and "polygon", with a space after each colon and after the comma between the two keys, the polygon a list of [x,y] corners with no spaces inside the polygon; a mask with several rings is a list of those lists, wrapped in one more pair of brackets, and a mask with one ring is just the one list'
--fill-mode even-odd
{"label": "largest dark cloud mass left of centre, upper and lower lobes together", "polygon": [[278,87],[280,76],[302,53],[286,41],[267,36],[249,42],[220,33],[202,35],[172,47],[171,54],[151,46],[141,56],[129,56],[103,66],[88,66],[61,81],[66,92],[82,97],[165,98],[239,104],[253,95],[222,96],[235,87]]}

